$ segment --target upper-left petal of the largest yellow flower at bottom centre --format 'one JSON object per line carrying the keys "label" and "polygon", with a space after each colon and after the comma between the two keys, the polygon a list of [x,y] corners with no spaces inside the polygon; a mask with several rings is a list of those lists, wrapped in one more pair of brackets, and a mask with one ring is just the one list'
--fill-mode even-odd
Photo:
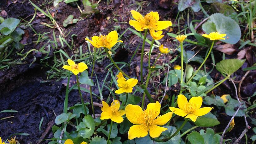
{"label": "upper-left petal of the largest yellow flower at bottom centre", "polygon": [[142,109],[138,105],[132,105],[128,104],[125,107],[125,115],[127,119],[137,125],[137,124],[143,124],[143,122],[140,120],[140,115],[143,113]]}

